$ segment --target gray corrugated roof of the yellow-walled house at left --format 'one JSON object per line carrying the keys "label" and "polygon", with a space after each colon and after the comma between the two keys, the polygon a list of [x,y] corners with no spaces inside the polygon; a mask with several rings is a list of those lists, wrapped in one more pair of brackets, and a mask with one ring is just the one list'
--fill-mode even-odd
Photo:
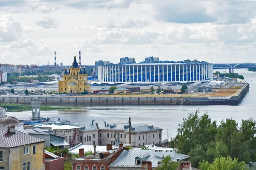
{"label": "gray corrugated roof of the yellow-walled house at left", "polygon": [[23,133],[15,130],[15,133],[8,133],[7,127],[0,126],[0,148],[17,147],[26,144],[34,144],[39,142],[45,142],[44,139],[30,136],[27,133]]}

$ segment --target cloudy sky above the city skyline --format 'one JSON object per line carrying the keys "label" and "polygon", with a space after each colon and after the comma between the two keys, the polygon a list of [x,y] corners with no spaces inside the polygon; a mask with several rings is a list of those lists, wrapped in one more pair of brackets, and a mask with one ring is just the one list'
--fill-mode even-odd
{"label": "cloudy sky above the city skyline", "polygon": [[256,0],[0,0],[0,63],[256,62]]}

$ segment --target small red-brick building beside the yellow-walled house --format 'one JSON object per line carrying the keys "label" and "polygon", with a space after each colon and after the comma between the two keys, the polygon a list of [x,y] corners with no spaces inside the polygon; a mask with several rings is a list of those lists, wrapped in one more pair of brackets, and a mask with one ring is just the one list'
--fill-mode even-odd
{"label": "small red-brick building beside the yellow-walled house", "polygon": [[44,150],[45,170],[64,170],[64,157],[59,157],[47,150]]}

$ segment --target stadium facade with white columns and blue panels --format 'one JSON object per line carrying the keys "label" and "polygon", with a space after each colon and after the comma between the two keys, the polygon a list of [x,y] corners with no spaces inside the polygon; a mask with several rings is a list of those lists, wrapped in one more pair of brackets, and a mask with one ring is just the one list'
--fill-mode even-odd
{"label": "stadium facade with white columns and blue panels", "polygon": [[213,80],[208,63],[151,63],[99,65],[100,82],[196,82]]}

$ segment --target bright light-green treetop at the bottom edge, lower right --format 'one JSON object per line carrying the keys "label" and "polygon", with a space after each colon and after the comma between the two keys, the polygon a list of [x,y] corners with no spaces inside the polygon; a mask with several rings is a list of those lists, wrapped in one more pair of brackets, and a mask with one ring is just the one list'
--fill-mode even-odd
{"label": "bright light-green treetop at the bottom edge, lower right", "polygon": [[199,163],[201,170],[247,170],[244,161],[239,162],[238,159],[232,159],[230,156],[218,157],[212,163],[203,160]]}

